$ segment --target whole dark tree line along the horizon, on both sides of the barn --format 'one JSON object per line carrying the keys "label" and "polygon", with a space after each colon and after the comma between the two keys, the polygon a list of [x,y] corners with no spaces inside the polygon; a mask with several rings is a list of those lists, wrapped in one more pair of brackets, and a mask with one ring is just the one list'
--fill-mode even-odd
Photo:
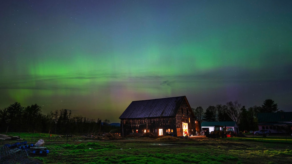
{"label": "whole dark tree line along the horizon, on both sides of the barn", "polygon": [[[235,121],[239,130],[257,130],[258,113],[283,112],[271,99],[266,99],[262,106],[253,106],[246,109],[238,101],[227,102],[209,106],[206,110],[202,107],[192,108],[195,117],[201,121]],[[90,119],[84,116],[72,115],[68,109],[51,111],[42,114],[41,107],[37,104],[22,107],[18,102],[9,107],[0,109],[0,132],[43,132],[51,134],[76,134],[98,135],[109,132],[113,127],[108,126],[109,120],[105,119],[104,125],[98,118]],[[119,128],[116,128],[119,131]]]}

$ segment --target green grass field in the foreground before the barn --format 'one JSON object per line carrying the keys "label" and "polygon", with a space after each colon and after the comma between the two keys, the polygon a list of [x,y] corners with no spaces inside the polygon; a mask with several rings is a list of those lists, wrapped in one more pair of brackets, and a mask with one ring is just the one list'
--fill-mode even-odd
{"label": "green grass field in the foreground before the barn", "polygon": [[[10,134],[18,135],[18,134]],[[50,153],[34,157],[43,163],[291,163],[292,137],[164,137],[98,141],[87,137],[52,137],[20,133],[29,143],[45,140]],[[4,142],[13,141],[1,141]]]}

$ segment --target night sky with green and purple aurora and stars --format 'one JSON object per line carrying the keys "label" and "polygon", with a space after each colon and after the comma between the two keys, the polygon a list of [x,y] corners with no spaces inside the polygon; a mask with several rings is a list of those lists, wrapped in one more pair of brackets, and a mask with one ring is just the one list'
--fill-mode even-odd
{"label": "night sky with green and purple aurora and stars", "polygon": [[1,1],[0,109],[110,122],[132,101],[292,111],[292,1]]}

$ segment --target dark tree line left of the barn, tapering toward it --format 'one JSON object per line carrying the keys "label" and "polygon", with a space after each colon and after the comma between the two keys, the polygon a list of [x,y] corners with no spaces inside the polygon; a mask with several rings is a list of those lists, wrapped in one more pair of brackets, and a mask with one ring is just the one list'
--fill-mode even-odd
{"label": "dark tree line left of the barn, tapering toward it", "polygon": [[[109,120],[72,115],[68,109],[42,114],[37,104],[22,107],[18,102],[0,109],[0,132],[42,132],[50,134],[99,135],[112,129]],[[117,128],[119,130],[119,128]]]}

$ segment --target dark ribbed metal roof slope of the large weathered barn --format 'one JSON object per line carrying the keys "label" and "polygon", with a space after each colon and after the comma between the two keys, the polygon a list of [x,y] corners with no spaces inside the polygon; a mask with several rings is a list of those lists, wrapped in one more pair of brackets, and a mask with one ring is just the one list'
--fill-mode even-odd
{"label": "dark ribbed metal roof slope of the large weathered barn", "polygon": [[133,101],[119,118],[175,116],[184,100],[187,101],[185,96]]}

